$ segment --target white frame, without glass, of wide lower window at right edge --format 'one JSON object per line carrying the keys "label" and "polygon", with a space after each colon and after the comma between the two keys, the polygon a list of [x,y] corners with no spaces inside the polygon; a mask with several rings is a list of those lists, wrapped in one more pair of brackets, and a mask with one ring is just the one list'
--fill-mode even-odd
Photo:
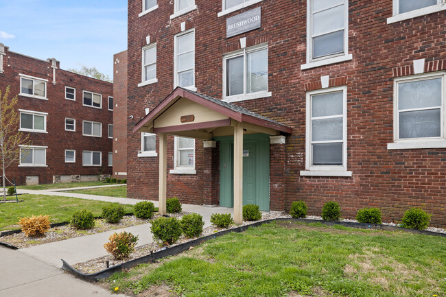
{"label": "white frame, without glass, of wide lower window at right edge", "polygon": [[[416,82],[441,78],[441,132],[439,137],[421,137],[412,139],[399,139],[399,109],[398,109],[398,84],[404,82]],[[410,75],[403,78],[395,78],[393,81],[393,143],[387,144],[388,150],[441,148],[446,147],[446,72],[424,73],[421,75]],[[414,110],[438,109],[438,108],[414,108]]]}

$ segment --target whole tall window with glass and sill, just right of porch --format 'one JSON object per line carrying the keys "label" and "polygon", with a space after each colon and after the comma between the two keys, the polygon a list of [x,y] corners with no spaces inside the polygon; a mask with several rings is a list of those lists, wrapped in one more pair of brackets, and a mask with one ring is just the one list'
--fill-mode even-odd
{"label": "whole tall window with glass and sill, just right of porch", "polygon": [[320,175],[351,176],[347,171],[347,88],[308,92],[307,106],[307,171],[301,175],[325,171]]}

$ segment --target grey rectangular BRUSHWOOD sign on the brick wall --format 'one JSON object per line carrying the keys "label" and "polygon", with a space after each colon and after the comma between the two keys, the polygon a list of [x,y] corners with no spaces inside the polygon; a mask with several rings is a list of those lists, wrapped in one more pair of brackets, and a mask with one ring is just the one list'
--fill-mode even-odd
{"label": "grey rectangular BRUSHWOOD sign on the brick wall", "polygon": [[260,14],[260,8],[255,8],[226,19],[226,38],[259,28],[261,23]]}

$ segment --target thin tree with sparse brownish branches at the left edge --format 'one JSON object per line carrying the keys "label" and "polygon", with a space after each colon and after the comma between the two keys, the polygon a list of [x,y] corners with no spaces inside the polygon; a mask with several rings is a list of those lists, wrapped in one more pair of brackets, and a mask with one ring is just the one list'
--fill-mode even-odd
{"label": "thin tree with sparse brownish branches at the left edge", "polygon": [[6,201],[6,187],[5,187],[5,169],[12,163],[19,161],[20,146],[29,145],[30,135],[24,134],[18,130],[20,116],[15,110],[17,104],[17,96],[8,99],[10,95],[10,86],[1,96],[0,90],[0,157],[3,168],[3,200]]}

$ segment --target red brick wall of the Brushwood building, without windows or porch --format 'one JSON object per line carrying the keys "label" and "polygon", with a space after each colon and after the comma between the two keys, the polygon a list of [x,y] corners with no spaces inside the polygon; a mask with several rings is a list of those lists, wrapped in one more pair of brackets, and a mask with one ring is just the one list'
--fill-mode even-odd
{"label": "red brick wall of the Brushwood building, without windows or porch", "polygon": [[[426,64],[446,58],[444,32],[446,12],[436,12],[388,25],[392,1],[349,1],[349,54],[353,60],[301,70],[306,63],[307,3],[304,0],[264,0],[244,10],[218,17],[221,1],[196,0],[198,10],[169,20],[174,1],[159,1],[159,8],[138,17],[141,1],[128,6],[128,121],[129,196],[156,199],[157,158],[137,158],[139,134],[131,128],[174,88],[174,34],[180,23],[195,28],[196,87],[198,92],[222,98],[222,55],[246,46],[268,43],[268,91],[272,97],[238,102],[261,115],[293,128],[285,144],[283,180],[285,201],[272,205],[288,210],[294,200],[305,200],[309,214],[320,215],[322,204],[336,200],[344,217],[357,209],[379,206],[385,221],[396,222],[403,211],[421,206],[432,213],[432,224],[446,226],[445,149],[387,150],[393,141],[393,69],[425,58]],[[261,28],[226,38],[227,17],[261,6]],[[156,84],[138,88],[141,82],[141,47],[145,36],[156,40]],[[436,63],[439,64],[439,63]],[[436,69],[445,69],[443,67]],[[433,66],[426,67],[430,71]],[[305,169],[305,92],[320,88],[320,76],[330,75],[330,86],[347,85],[348,169],[351,178],[303,177]],[[193,176],[168,175],[167,195],[183,202],[202,202],[202,164],[197,141]],[[169,147],[173,147],[172,140]],[[173,165],[172,153],[168,158]],[[271,158],[274,168],[274,158]],[[152,186],[153,185],[153,186]],[[281,196],[281,195],[279,195]],[[272,198],[273,199],[273,198]],[[276,199],[276,198],[274,198]],[[201,202],[200,202],[201,201]],[[275,207],[274,207],[275,208]]]}

